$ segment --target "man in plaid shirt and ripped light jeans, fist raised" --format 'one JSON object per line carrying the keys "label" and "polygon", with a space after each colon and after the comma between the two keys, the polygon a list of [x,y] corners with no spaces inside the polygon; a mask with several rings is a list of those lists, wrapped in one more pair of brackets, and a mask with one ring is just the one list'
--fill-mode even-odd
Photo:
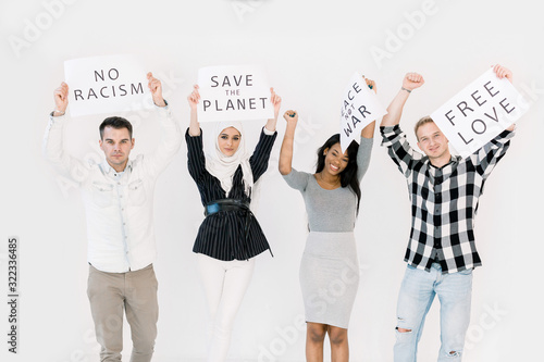
{"label": "man in plaid shirt and ripped light jeans, fist raised", "polygon": [[[495,65],[499,78],[512,73]],[[382,146],[405,175],[411,200],[411,232],[405,261],[407,270],[397,303],[395,362],[413,362],[425,315],[435,295],[441,301],[438,361],[460,361],[470,321],[472,270],[481,260],[474,244],[474,215],[484,183],[505,155],[514,125],[470,157],[452,155],[448,140],[429,116],[415,127],[415,151],[398,123],[410,92],[424,84],[408,73],[387,108],[380,130]]]}

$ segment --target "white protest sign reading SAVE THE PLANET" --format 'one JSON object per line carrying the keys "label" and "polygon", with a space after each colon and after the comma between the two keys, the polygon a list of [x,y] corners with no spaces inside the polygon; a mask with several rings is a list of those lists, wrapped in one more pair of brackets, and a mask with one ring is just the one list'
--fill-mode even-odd
{"label": "white protest sign reading SAVE THE PLANET", "polygon": [[199,122],[274,117],[270,86],[257,65],[208,66],[198,71]]}

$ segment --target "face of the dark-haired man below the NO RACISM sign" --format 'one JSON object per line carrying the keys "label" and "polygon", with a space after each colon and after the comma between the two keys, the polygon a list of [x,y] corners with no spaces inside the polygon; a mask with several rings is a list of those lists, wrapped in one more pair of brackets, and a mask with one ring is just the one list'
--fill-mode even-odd
{"label": "face of the dark-haired man below the NO RACISM sign", "polygon": [[128,129],[108,126],[103,129],[102,139],[99,143],[110,166],[118,172],[125,170],[128,154],[134,148],[134,138],[131,139]]}

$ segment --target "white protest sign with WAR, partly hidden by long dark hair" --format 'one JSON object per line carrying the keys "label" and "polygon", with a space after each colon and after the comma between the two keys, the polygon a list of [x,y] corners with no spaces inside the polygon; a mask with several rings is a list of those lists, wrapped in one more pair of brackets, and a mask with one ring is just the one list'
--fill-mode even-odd
{"label": "white protest sign with WAR, partly hidden by long dark hair", "polygon": [[359,141],[361,129],[369,123],[386,114],[375,92],[369,88],[364,78],[355,73],[344,91],[341,111],[341,147],[344,152],[351,141]]}

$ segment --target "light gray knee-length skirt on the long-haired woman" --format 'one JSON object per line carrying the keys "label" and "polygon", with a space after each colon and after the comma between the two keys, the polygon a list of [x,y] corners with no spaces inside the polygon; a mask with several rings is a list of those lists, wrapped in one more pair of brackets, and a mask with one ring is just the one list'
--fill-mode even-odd
{"label": "light gray knee-length skirt on the long-haired woman", "polygon": [[310,232],[299,277],[306,322],[347,328],[359,287],[354,233]]}

